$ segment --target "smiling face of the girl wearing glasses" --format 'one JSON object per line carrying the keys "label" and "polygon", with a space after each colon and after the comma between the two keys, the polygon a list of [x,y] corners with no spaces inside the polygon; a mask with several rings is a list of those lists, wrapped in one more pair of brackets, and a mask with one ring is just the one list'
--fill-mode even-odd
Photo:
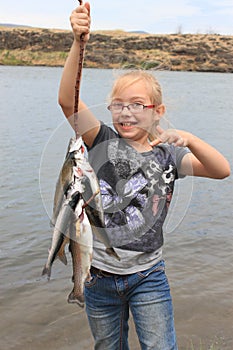
{"label": "smiling face of the girl wearing glasses", "polygon": [[[116,103],[124,106],[132,103],[139,103],[144,106],[152,105],[148,87],[143,80],[139,80],[125,89],[121,89],[118,95],[112,99],[111,104]],[[121,137],[148,146],[148,135],[151,126],[153,123],[159,122],[162,114],[163,112],[157,106],[155,108],[144,108],[141,111],[135,112],[124,107],[119,112],[113,110],[112,119],[115,129]]]}

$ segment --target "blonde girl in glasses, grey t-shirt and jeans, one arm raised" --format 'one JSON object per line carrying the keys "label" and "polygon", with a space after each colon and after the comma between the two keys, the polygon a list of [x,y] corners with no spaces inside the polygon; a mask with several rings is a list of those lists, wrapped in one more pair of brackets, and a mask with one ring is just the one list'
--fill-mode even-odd
{"label": "blonde girl in glasses, grey t-shirt and jeans, one arm raised", "polygon": [[[74,42],[67,58],[59,103],[73,124],[80,35],[89,40],[90,5],[71,15]],[[99,179],[105,225],[121,260],[95,239],[92,279],[85,284],[86,312],[95,349],[128,350],[132,313],[143,350],[177,349],[170,288],[162,259],[162,226],[175,180],[186,175],[222,179],[227,160],[189,132],[163,130],[165,112],[157,80],[142,71],[120,76],[108,106],[114,129],[81,101],[78,128]]]}

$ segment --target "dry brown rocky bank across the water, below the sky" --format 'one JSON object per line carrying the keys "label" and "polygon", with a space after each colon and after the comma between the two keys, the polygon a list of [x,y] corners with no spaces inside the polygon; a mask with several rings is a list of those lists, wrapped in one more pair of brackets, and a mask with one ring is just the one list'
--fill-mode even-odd
{"label": "dry brown rocky bank across the water, below the sky", "polygon": [[[70,31],[0,28],[0,64],[63,66]],[[93,32],[85,67],[233,72],[233,36]]]}

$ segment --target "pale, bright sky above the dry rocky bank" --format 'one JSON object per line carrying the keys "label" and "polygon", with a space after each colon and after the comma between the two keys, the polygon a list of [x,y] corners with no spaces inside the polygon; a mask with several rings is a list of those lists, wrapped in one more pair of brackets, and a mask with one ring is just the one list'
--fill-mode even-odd
{"label": "pale, bright sky above the dry rocky bank", "polygon": [[[91,30],[233,35],[233,0],[90,0]],[[75,0],[1,0],[0,23],[70,29]]]}

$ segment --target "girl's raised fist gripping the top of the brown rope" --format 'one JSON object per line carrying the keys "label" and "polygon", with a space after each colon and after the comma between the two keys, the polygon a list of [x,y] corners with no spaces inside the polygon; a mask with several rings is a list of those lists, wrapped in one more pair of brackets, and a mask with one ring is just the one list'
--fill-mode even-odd
{"label": "girl's raised fist gripping the top of the brown rope", "polygon": [[72,26],[74,38],[76,41],[80,41],[82,34],[83,40],[87,42],[90,38],[90,4],[86,2],[84,5],[77,7],[70,16],[70,23]]}

